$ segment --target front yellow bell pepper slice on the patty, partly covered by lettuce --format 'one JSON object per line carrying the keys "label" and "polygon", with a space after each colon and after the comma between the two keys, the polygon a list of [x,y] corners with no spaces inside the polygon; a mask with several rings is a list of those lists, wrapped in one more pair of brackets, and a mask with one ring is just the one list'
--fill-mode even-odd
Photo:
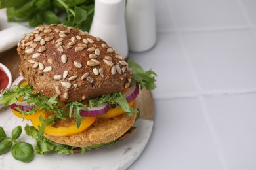
{"label": "front yellow bell pepper slice on the patty, partly covered by lettuce", "polygon": [[[37,130],[38,130],[38,126],[39,125],[41,126],[41,122],[39,120],[39,116],[41,115],[45,117],[45,113],[43,112],[43,110],[39,110],[36,114],[33,114],[33,116],[31,116],[31,119],[30,119],[33,126]],[[47,135],[52,135],[55,137],[66,137],[70,135],[76,135],[78,133],[85,131],[85,129],[91,126],[91,124],[95,122],[95,119],[96,119],[95,117],[85,117],[84,119],[81,120],[81,125],[79,128],[77,127],[76,123],[66,127],[53,127],[49,125],[45,128],[45,133]]]}

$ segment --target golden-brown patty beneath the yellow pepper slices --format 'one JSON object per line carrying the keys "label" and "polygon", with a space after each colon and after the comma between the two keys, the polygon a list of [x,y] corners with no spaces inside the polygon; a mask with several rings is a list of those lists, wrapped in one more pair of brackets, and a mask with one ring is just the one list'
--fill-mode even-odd
{"label": "golden-brown patty beneath the yellow pepper slices", "polygon": [[[137,109],[136,102],[133,109]],[[45,137],[55,143],[76,147],[88,147],[94,144],[109,143],[125,134],[134,124],[136,113],[133,116],[122,114],[113,118],[96,118],[95,122],[77,135],[54,137],[45,134]]]}

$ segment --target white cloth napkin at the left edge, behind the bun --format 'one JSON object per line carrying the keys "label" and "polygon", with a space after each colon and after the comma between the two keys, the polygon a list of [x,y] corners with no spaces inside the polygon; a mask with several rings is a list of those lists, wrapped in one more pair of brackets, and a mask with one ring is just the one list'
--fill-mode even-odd
{"label": "white cloth napkin at the left edge, behind the bun", "polygon": [[9,50],[18,44],[18,40],[24,33],[30,33],[32,28],[24,25],[16,25],[0,31],[0,52]]}

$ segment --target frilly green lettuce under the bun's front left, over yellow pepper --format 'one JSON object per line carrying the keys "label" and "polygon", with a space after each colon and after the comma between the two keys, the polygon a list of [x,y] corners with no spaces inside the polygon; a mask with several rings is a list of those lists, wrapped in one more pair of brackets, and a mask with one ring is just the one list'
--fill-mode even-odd
{"label": "frilly green lettuce under the bun's front left, over yellow pepper", "polygon": [[[29,105],[33,104],[33,109],[24,111],[20,108],[16,108],[20,114],[28,115],[35,114],[37,110],[45,110],[45,112],[54,112],[52,116],[49,116],[47,119],[40,117],[40,121],[42,125],[39,127],[41,134],[45,130],[47,125],[53,125],[54,120],[56,118],[60,120],[66,120],[68,118],[76,118],[77,119],[77,127],[80,126],[81,119],[83,117],[79,114],[81,109],[87,109],[87,107],[79,102],[72,101],[67,103],[60,103],[57,99],[57,95],[53,97],[46,97],[45,95],[41,95],[41,93],[36,93],[33,86],[13,86],[10,89],[6,89],[2,93],[2,97],[0,97],[0,103],[5,103],[5,105],[11,105],[12,103],[16,103],[20,97],[24,97],[24,101],[26,101]],[[69,109],[69,110],[67,110]],[[74,110],[74,114],[72,112]]]}

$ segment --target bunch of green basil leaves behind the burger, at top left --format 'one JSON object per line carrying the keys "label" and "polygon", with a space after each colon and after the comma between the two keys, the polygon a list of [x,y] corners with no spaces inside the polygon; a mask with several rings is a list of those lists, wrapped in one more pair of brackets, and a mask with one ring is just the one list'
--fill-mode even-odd
{"label": "bunch of green basil leaves behind the burger, at top left", "polygon": [[9,22],[59,24],[89,31],[94,13],[94,0],[0,0],[0,9],[7,8]]}

